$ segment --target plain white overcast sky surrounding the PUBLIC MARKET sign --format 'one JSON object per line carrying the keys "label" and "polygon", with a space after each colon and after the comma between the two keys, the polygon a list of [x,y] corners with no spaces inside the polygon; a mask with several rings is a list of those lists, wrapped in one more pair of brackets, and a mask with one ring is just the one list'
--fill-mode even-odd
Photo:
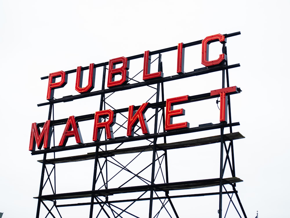
{"label": "plain white overcast sky surrounding the PUBLIC MARKET sign", "polygon": [[[230,85],[243,90],[233,106],[234,121],[241,124],[235,130],[246,137],[235,147],[236,176],[244,180],[237,190],[248,217],[257,210],[260,218],[289,217],[289,6],[248,0],[1,0],[3,218],[36,214],[42,155],[31,156],[28,145],[31,123],[46,121],[48,114],[47,107],[37,107],[46,102],[47,80],[40,77],[238,31],[227,43],[230,64],[241,64],[230,70]],[[218,201],[203,206],[218,217]]]}

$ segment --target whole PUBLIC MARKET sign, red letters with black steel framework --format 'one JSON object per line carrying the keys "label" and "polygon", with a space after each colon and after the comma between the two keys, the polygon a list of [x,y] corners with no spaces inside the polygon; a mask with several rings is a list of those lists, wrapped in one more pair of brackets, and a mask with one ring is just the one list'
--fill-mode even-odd
{"label": "whole PUBLIC MARKET sign, red letters with black steel framework", "polygon": [[[127,58],[113,58],[105,63],[78,66],[74,70],[58,71],[42,77],[48,81],[48,101],[38,106],[49,106],[48,119],[42,123],[32,123],[29,144],[32,155],[44,156],[43,160],[39,160],[42,173],[39,196],[35,197],[38,199],[36,217],[65,217],[67,210],[63,208],[73,206],[89,208],[87,217],[90,218],[180,217],[182,212],[177,209],[180,206],[175,206],[175,199],[211,195],[219,196],[219,217],[222,217],[225,207],[222,204],[223,195],[230,197],[230,203],[238,215],[246,217],[235,189],[236,183],[242,180],[235,176],[233,153],[233,140],[244,137],[232,130],[233,126],[240,124],[232,122],[230,104],[230,96],[240,93],[241,89],[229,85],[229,69],[240,65],[228,65],[226,52],[226,39],[239,34],[215,34],[196,42],[178,43],[174,47],[144,51]],[[213,42],[221,43],[221,52],[216,58],[210,55],[210,44]],[[195,57],[197,54],[190,49],[199,45],[199,57],[204,67],[191,69],[185,51],[189,49],[186,54],[188,52],[190,57]],[[168,57],[169,70],[162,61],[162,55]],[[156,56],[155,60],[153,56]],[[185,72],[185,69],[190,70]],[[220,81],[215,79],[213,83],[204,85],[204,88],[208,87],[206,93],[191,87],[192,79],[217,72],[220,72]],[[68,95],[56,97],[62,90]],[[89,99],[89,103],[84,104],[81,99]],[[192,111],[185,113],[184,108],[210,99],[218,99],[219,114],[200,114],[198,116],[211,120],[196,124],[197,114]],[[69,104],[69,111],[73,113],[55,119],[55,105],[61,102]],[[75,109],[77,107],[79,110]],[[207,106],[198,107],[200,110],[207,109]],[[90,112],[79,114],[83,110]],[[218,135],[196,137],[198,132],[212,134],[217,131]],[[189,181],[175,178],[170,181],[170,161],[180,158],[171,151],[177,153],[216,143],[220,144],[219,178]],[[76,149],[78,154],[66,154]],[[60,157],[56,158],[59,153]],[[53,156],[48,158],[48,155]],[[93,163],[92,186],[87,190],[56,192],[56,165],[88,160],[94,160],[90,161]],[[226,168],[229,169],[228,178],[224,178]],[[45,189],[48,183],[50,191]],[[217,187],[218,191],[193,191],[207,187]],[[182,190],[187,190],[187,194]],[[232,200],[233,194],[236,203]],[[144,203],[142,210],[137,202]],[[44,212],[41,210],[43,207]],[[83,217],[86,217],[84,214]]]}

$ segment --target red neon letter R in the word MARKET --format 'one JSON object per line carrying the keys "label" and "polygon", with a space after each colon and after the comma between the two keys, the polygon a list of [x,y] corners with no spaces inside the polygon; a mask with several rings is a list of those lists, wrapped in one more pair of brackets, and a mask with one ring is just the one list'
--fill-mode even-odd
{"label": "red neon letter R in the word MARKET", "polygon": [[[108,120],[102,122],[102,118],[108,117]],[[114,139],[112,126],[115,124],[116,115],[112,110],[102,110],[95,112],[95,124],[94,124],[94,134],[93,141],[100,141],[101,130],[100,128],[105,128],[107,139]]]}

